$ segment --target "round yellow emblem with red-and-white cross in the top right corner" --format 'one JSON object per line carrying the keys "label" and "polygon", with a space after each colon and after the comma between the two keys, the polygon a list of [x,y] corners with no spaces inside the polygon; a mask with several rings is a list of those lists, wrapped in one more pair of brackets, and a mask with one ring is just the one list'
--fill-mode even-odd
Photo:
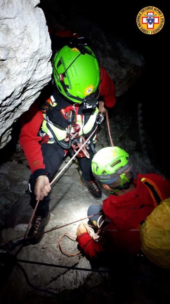
{"label": "round yellow emblem with red-and-white cross in the top right corner", "polygon": [[156,34],[164,26],[164,15],[155,6],[148,6],[140,10],[136,22],[143,33]]}

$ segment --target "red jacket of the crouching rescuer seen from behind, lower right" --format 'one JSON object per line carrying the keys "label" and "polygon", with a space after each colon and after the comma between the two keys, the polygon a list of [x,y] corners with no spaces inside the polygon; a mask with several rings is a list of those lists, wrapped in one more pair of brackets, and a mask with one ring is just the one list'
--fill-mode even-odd
{"label": "red jacket of the crouching rescuer seen from behind, lower right", "polygon": [[170,181],[158,174],[138,174],[137,180],[134,180],[134,191],[121,196],[110,195],[104,200],[102,209],[106,218],[111,221],[106,229],[114,231],[104,232],[105,246],[103,247],[100,241],[94,241],[88,233],[82,233],[77,238],[89,260],[104,250],[115,254],[140,253],[140,224],[156,206],[150,188],[141,178],[147,178],[154,183],[154,190],[156,189],[161,200],[170,197]]}

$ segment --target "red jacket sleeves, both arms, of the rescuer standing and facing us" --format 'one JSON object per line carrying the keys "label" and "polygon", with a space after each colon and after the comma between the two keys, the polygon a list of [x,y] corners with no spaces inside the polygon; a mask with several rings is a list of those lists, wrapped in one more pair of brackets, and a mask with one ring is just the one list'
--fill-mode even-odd
{"label": "red jacket sleeves, both arms, of the rescuer standing and facing us", "polygon": [[[116,102],[114,84],[102,67],[100,81],[100,97],[104,100],[104,105],[107,109],[112,108]],[[43,114],[36,104],[32,104],[29,110],[22,115],[19,143],[24,150],[32,173],[37,169],[45,169],[39,144],[42,138],[38,136],[43,119]]]}

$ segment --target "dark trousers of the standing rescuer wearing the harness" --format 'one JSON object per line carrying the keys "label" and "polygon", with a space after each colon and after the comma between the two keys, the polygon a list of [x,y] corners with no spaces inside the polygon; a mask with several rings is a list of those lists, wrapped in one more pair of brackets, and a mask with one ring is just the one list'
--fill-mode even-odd
{"label": "dark trousers of the standing rescuer wearing the harness", "polygon": [[[64,160],[65,152],[64,150],[57,144],[57,143],[43,143],[41,144],[41,150],[43,155],[44,164],[46,167],[46,171],[49,172],[49,181],[51,182],[55,176],[56,171],[60,168],[60,165],[62,164]],[[92,181],[94,180],[94,176],[91,171],[91,161],[94,156],[91,147],[88,150],[90,154],[90,158],[87,159],[87,157],[79,158],[80,161],[80,167],[82,170],[82,174],[85,180]],[[78,178],[78,177],[77,177]],[[29,185],[30,185],[30,194],[31,194],[31,201],[30,205],[34,209],[36,206],[36,196],[34,194],[34,187],[36,184],[36,180],[34,178],[34,175],[31,174],[29,179]],[[38,207],[36,209],[36,216],[46,216],[49,212],[49,201],[50,196],[49,194],[44,197],[42,201],[39,202]]]}

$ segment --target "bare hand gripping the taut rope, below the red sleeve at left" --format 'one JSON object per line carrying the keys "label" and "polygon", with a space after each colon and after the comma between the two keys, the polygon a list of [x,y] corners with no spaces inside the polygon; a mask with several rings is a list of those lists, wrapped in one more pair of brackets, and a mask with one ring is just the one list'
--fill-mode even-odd
{"label": "bare hand gripping the taut rope, below the red sleeve at left", "polygon": [[51,186],[49,184],[49,179],[46,175],[40,175],[36,179],[36,185],[34,188],[34,193],[36,195],[36,200],[42,201],[44,196],[47,196],[51,190]]}

